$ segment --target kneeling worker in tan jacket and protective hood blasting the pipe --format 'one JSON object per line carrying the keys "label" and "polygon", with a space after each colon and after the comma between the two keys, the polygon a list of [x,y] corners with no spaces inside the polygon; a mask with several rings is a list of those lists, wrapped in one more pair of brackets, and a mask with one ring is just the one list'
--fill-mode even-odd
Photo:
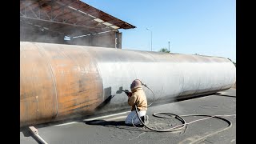
{"label": "kneeling worker in tan jacket and protective hood blasting the pipe", "polygon": [[[135,79],[130,84],[131,92],[126,93],[128,96],[128,104],[131,106],[131,112],[128,114],[126,118],[126,125],[134,125],[142,126],[142,122],[146,125],[148,124],[148,116],[146,115],[147,110],[147,101],[146,94],[142,89],[142,82],[139,79]],[[142,119],[142,122],[139,121],[138,116],[136,114],[135,105],[138,109],[138,115]]]}

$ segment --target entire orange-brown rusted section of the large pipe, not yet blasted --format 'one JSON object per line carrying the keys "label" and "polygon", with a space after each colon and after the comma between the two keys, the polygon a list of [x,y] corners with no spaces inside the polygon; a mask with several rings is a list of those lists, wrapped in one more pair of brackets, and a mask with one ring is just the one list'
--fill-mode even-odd
{"label": "entire orange-brown rusted section of the large pipe, not yet blasted", "polygon": [[70,118],[102,100],[93,58],[78,47],[21,42],[20,125]]}

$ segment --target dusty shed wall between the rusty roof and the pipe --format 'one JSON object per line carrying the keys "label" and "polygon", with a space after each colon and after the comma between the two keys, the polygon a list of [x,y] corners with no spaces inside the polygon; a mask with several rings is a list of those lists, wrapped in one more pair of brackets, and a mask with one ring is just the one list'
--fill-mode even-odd
{"label": "dusty shed wall between the rusty roof and the pipe", "polygon": [[[46,42],[58,43],[69,45],[82,45],[82,46],[99,46],[122,48],[122,33],[108,32],[103,34],[94,34],[81,38],[74,38],[70,41],[64,40],[63,34],[56,34],[50,30],[31,29],[26,26],[20,28],[20,40],[25,42]],[[117,38],[117,40],[115,40]]]}

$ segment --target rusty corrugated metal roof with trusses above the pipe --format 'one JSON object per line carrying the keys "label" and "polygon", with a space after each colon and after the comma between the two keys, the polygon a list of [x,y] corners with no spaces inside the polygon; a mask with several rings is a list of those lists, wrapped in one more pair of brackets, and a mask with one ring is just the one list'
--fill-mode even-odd
{"label": "rusty corrugated metal roof with trusses above the pipe", "polygon": [[20,21],[21,26],[34,26],[66,35],[135,28],[78,0],[21,0]]}

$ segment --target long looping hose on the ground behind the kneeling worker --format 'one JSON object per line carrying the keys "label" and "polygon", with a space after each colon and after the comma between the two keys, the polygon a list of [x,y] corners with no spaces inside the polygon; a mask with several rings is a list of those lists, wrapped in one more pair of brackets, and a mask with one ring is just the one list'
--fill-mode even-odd
{"label": "long looping hose on the ground behind the kneeling worker", "polygon": [[[146,84],[142,83],[143,86],[146,86]],[[148,86],[146,86],[146,88],[148,88],[149,90],[151,90]],[[154,92],[153,90],[151,90],[151,92],[153,93],[154,95]],[[153,99],[153,102],[154,102],[154,99]],[[148,106],[151,106],[153,104],[153,102],[151,102]],[[137,106],[135,105],[135,110],[136,110],[136,114],[138,116],[138,119],[140,122],[142,122],[142,119],[140,118],[140,116],[138,115],[138,108]],[[162,115],[168,115],[169,118],[177,118],[178,120],[180,120],[182,122],[181,125],[178,125],[178,126],[174,126],[174,127],[171,127],[169,129],[163,129],[163,130],[157,130],[157,129],[154,129],[152,127],[149,127],[147,126],[144,122],[142,122],[143,126],[145,126],[146,128],[148,128],[149,130],[154,130],[154,131],[157,131],[157,132],[174,132],[174,131],[178,131],[178,130],[182,130],[182,129],[185,129],[187,125],[193,123],[193,122],[198,122],[198,121],[202,121],[202,120],[206,120],[206,119],[209,119],[209,118],[218,118],[218,119],[221,119],[222,121],[225,121],[229,124],[228,127],[222,129],[222,130],[218,130],[216,132],[214,132],[214,134],[217,134],[221,131],[224,131],[224,130],[228,130],[230,129],[230,127],[232,126],[232,122],[230,122],[229,120],[225,119],[225,118],[221,118],[221,117],[230,117],[230,116],[235,116],[236,114],[230,114],[230,115],[207,115],[207,114],[186,114],[186,115],[178,115],[178,114],[171,114],[171,113],[154,113],[153,116],[154,117],[158,117],[158,118],[166,118],[166,117],[162,117],[162,116],[159,116],[159,114],[162,114]],[[135,115],[134,115],[135,116]],[[189,116],[205,116],[205,117],[208,117],[208,118],[201,118],[201,119],[197,119],[197,120],[194,120],[192,122],[186,122],[185,119],[183,119],[182,117],[189,117]],[[132,118],[132,124],[134,125],[134,122],[133,122],[133,119]],[[135,126],[136,127],[136,126]],[[211,134],[212,135],[212,134]]]}

